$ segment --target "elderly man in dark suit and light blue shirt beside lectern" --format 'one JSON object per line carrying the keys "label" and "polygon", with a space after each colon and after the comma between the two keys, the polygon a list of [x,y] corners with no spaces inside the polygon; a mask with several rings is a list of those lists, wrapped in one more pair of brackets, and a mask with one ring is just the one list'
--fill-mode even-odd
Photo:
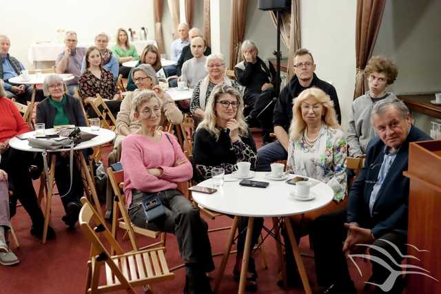
{"label": "elderly man in dark suit and light blue shirt beside lectern", "polygon": [[378,136],[369,142],[347,209],[314,222],[312,240],[322,293],[356,293],[345,253],[354,257],[365,253],[367,246],[370,255],[361,257],[371,260],[370,282],[376,284],[376,293],[402,291],[400,274],[387,280],[401,271],[402,257],[393,247],[406,252],[409,179],[402,172],[407,170],[409,143],[431,138],[411,125],[409,109],[397,98],[376,103],[371,120]]}

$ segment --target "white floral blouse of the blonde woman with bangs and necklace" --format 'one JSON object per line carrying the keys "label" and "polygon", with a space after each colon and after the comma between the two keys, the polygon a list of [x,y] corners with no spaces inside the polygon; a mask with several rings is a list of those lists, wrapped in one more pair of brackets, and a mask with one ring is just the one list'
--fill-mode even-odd
{"label": "white floral blouse of the blonde woman with bangs and necklace", "polygon": [[340,202],[347,193],[346,154],[342,130],[323,125],[313,146],[307,144],[304,133],[289,139],[287,166],[295,174],[326,182],[334,190],[334,200]]}

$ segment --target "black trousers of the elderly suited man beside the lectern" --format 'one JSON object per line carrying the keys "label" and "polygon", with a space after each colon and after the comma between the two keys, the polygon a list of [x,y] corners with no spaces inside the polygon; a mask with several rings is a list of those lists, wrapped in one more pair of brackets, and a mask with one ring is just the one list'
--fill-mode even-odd
{"label": "black trousers of the elderly suited man beside the lectern", "polygon": [[[342,252],[343,242],[347,237],[347,230],[343,224],[347,220],[347,211],[343,209],[334,213],[319,216],[312,224],[311,235],[314,241],[314,258],[316,261],[317,280],[320,286],[331,284],[345,285],[351,282],[347,259]],[[383,241],[386,240],[386,241]],[[376,293],[401,293],[403,288],[402,276],[396,280],[387,281],[393,275],[393,271],[402,271],[400,254],[388,244],[388,241],[398,246],[400,252],[406,254],[407,235],[400,231],[391,231],[382,235],[373,242],[384,253],[370,249],[369,255],[380,262],[371,261],[372,276],[370,282],[382,285],[376,287]],[[396,262],[396,264],[394,263]],[[387,269],[390,266],[392,272]],[[389,288],[390,287],[390,288]],[[389,288],[389,289],[388,289]]]}

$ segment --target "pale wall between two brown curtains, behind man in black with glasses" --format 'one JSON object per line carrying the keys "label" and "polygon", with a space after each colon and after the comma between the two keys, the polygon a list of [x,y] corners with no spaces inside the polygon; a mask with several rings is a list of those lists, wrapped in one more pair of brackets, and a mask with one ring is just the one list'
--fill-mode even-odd
{"label": "pale wall between two brown curtains, behind man in black with glasses", "polygon": [[342,127],[347,120],[356,74],[356,1],[300,1],[302,47],[311,51],[318,78],[337,90]]}

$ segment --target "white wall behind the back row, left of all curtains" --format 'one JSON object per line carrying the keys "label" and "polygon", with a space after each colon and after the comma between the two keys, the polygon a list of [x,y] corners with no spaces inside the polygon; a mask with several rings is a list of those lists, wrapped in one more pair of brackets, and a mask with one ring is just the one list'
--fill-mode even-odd
{"label": "white wall behind the back row, left of all curtains", "polygon": [[[167,1],[165,1],[167,2]],[[22,0],[1,8],[0,34],[10,37],[10,54],[32,67],[28,49],[36,41],[57,41],[57,30],[74,30],[80,42],[89,42],[99,32],[114,39],[118,28],[141,26],[154,39],[153,1],[125,0],[114,3],[105,0]]]}

